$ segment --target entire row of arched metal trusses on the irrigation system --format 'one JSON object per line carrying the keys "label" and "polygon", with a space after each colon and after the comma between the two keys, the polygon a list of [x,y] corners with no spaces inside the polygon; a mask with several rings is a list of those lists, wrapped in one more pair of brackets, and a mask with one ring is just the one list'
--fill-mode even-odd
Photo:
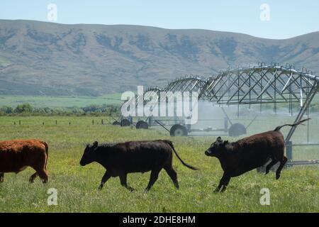
{"label": "entire row of arched metal trusses on the irrigation system", "polygon": [[[167,87],[150,87],[145,92],[198,92],[198,99],[213,104],[274,104],[274,111],[276,104],[289,104],[289,111],[292,111],[292,104],[300,103],[301,109],[296,117],[299,121],[318,92],[318,87],[319,77],[310,70],[298,71],[291,65],[283,67],[276,63],[228,69],[208,79],[181,77]],[[291,139],[295,129],[291,128],[286,141]]]}

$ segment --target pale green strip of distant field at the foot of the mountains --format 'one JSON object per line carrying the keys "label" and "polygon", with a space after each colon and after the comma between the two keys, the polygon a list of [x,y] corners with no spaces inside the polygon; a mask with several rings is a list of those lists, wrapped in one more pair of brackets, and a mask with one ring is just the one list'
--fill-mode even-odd
{"label": "pale green strip of distant field at the foot of the mountains", "polygon": [[84,107],[89,105],[121,105],[121,94],[108,94],[105,96],[12,96],[0,95],[0,106],[16,107],[18,104],[30,104],[35,107]]}

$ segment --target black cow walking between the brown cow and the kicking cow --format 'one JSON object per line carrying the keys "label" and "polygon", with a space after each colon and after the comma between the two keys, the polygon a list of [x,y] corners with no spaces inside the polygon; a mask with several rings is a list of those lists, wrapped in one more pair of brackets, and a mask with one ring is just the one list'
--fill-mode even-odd
{"label": "black cow walking between the brown cow and the kicking cow", "polygon": [[145,189],[145,191],[148,191],[156,182],[162,168],[166,170],[178,189],[177,173],[172,167],[172,150],[183,165],[189,167],[191,170],[197,170],[195,167],[181,160],[174,149],[172,141],[169,140],[103,143],[101,145],[95,141],[93,145],[86,145],[79,163],[84,166],[91,162],[98,162],[106,168],[99,189],[103,188],[103,184],[110,177],[120,177],[123,187],[133,191],[133,188],[129,187],[126,182],[128,173],[148,172],[151,170],[150,182]]}

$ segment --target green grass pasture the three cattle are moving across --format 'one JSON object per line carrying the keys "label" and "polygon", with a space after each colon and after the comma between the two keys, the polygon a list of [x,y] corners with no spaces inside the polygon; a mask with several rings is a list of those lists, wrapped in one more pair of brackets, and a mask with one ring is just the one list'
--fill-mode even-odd
{"label": "green grass pasture the three cattle are moving across", "polygon": [[[21,126],[13,121],[21,119]],[[58,124],[55,125],[57,119]],[[319,212],[318,166],[290,167],[284,169],[281,179],[275,180],[274,172],[262,175],[257,171],[231,179],[223,194],[214,194],[222,175],[216,158],[206,157],[203,152],[213,136],[201,138],[171,138],[167,132],[157,129],[140,130],[119,126],[91,125],[91,117],[1,117],[0,140],[14,138],[39,138],[49,145],[49,182],[42,184],[36,179],[28,183],[33,170],[6,174],[0,184],[1,212]],[[45,125],[42,125],[42,122]],[[69,125],[71,122],[71,125]],[[258,121],[251,131],[260,131],[260,125],[272,129],[283,120],[269,118]],[[318,137],[318,119],[311,128]],[[299,128],[298,134],[304,132]],[[81,167],[79,160],[86,143],[94,140],[121,142],[125,140],[173,140],[181,158],[200,170],[193,171],[181,165],[174,156],[174,168],[179,177],[180,189],[174,188],[166,172],[149,193],[145,194],[150,172],[128,175],[128,184],[135,192],[121,187],[118,178],[111,178],[100,192],[97,188],[105,170],[98,164]],[[235,140],[235,138],[228,138]],[[318,158],[317,148],[304,153],[296,148],[296,158]],[[57,206],[47,205],[47,189],[57,189]],[[259,203],[260,189],[269,188],[270,206]]]}

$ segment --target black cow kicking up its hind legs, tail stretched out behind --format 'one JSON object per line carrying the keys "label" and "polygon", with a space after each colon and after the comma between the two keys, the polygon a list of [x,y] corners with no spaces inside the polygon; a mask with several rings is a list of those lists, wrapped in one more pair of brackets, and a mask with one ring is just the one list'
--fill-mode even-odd
{"label": "black cow kicking up its hind legs, tail stretched out behind", "polygon": [[[308,120],[284,126],[295,127]],[[272,162],[267,165],[266,174],[269,173],[272,166],[280,162],[276,170],[276,179],[279,179],[281,170],[287,162],[284,156],[285,140],[280,132],[284,126],[278,126],[274,131],[252,135],[234,143],[228,143],[218,137],[211,148],[205,152],[208,156],[217,157],[224,171],[215,192],[220,192],[220,189],[221,192],[224,192],[231,177],[237,177],[257,167],[262,167],[270,159]]]}

